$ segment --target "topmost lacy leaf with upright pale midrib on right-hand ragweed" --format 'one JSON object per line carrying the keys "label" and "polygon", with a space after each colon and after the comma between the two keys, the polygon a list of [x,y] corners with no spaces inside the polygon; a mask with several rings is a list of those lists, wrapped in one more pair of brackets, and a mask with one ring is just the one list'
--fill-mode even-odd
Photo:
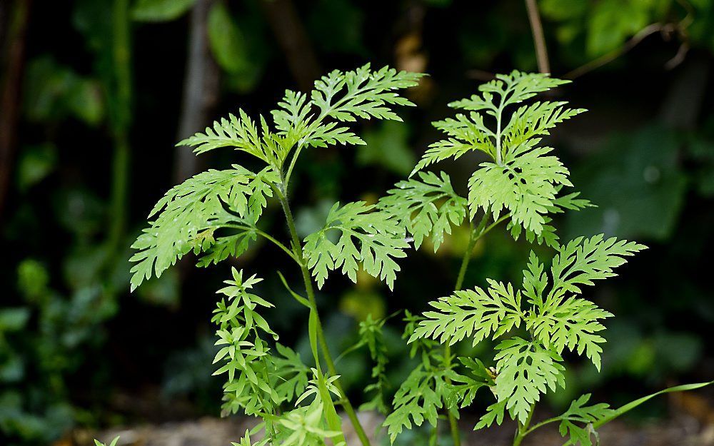
{"label": "topmost lacy leaf with upright pale midrib on right-hand ragweed", "polygon": [[[566,81],[547,74],[513,71],[481,85],[481,94],[450,103],[470,113],[458,113],[455,118],[434,124],[446,138],[428,148],[414,172],[470,151],[486,153],[491,161],[481,163],[468,182],[471,215],[476,215],[479,208],[490,210],[494,218],[508,211],[512,227],[522,226],[533,234],[529,238],[555,245],[557,238],[554,228],[548,225],[547,213],[557,206],[555,197],[560,186],[571,186],[569,173],[558,158],[549,154],[552,148],[538,144],[540,137],[548,135],[556,124],[583,110],[566,108],[564,102],[535,102],[513,111],[508,122],[504,112],[508,106],[563,83]],[[487,125],[487,121],[491,124]],[[514,230],[514,236],[517,234]]]}

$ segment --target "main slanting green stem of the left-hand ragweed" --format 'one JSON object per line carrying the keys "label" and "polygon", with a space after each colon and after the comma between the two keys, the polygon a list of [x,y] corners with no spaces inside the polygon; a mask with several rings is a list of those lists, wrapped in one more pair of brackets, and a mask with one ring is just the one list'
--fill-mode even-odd
{"label": "main slanting green stem of the left-hand ragweed", "polygon": [[[284,190],[284,187],[281,186]],[[325,360],[325,363],[327,364],[327,368],[330,372],[331,376],[336,376],[337,375],[337,370],[335,368],[335,363],[332,360],[332,355],[330,354],[330,349],[328,348],[327,341],[325,340],[325,333],[323,332],[322,329],[322,323],[320,320],[320,315],[317,310],[317,303],[315,300],[315,288],[313,287],[312,283],[312,278],[310,275],[310,271],[308,270],[307,263],[305,260],[305,257],[303,255],[303,247],[302,244],[300,243],[300,239],[298,238],[298,233],[295,228],[295,221],[293,220],[293,213],[290,209],[290,205],[288,204],[288,200],[286,196],[283,195],[282,191],[279,188],[275,188],[276,194],[278,196],[278,200],[280,201],[281,205],[283,206],[283,213],[285,213],[285,218],[288,223],[288,231],[290,232],[290,237],[293,245],[293,253],[295,253],[296,258],[298,258],[298,262],[300,263],[300,270],[303,275],[303,282],[305,283],[305,291],[308,295],[308,301],[311,305],[311,310],[314,312],[317,318],[317,338],[318,338],[318,343],[320,345],[320,349],[322,350],[322,357]],[[313,355],[318,357],[318,353],[313,351]],[[364,432],[364,429],[362,425],[360,424],[357,414],[352,407],[352,404],[350,400],[347,397],[347,394],[342,388],[342,385],[340,384],[339,380],[336,380],[334,384],[337,387],[337,390],[339,390],[340,394],[342,395],[342,407],[344,408],[345,412],[347,413],[347,417],[350,419],[352,422],[352,425],[354,427],[355,433],[357,434],[357,437],[359,437],[360,441],[362,442],[363,446],[370,446],[369,438],[367,437],[367,434]]]}

